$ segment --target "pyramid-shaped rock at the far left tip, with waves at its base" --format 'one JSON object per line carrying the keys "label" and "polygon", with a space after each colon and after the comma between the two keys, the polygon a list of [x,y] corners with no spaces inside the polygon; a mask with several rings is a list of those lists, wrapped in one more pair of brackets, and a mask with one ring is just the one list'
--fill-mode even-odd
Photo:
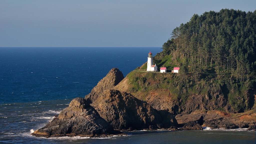
{"label": "pyramid-shaped rock at the far left tip, with waves at its base", "polygon": [[113,130],[97,111],[83,98],[73,99],[69,107],[63,109],[45,127],[32,135],[38,137],[89,136],[104,137],[121,132]]}

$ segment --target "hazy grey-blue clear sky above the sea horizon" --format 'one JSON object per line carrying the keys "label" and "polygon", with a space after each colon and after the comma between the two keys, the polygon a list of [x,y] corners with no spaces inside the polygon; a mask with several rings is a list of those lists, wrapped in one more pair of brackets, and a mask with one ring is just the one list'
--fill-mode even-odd
{"label": "hazy grey-blue clear sky above the sea horizon", "polygon": [[0,0],[0,47],[162,47],[193,14],[256,0]]}

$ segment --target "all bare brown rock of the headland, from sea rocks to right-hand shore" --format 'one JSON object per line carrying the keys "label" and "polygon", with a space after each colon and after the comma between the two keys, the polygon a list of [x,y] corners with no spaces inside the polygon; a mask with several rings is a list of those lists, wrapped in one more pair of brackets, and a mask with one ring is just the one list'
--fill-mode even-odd
{"label": "all bare brown rock of the headland, from sea rocks to right-hand shore", "polygon": [[[142,76],[148,75],[148,73],[138,73]],[[165,79],[165,76],[154,76],[154,78],[160,81],[158,79]],[[144,80],[141,85],[152,85],[146,83],[148,81]],[[216,104],[205,105],[203,102],[205,97],[199,95],[191,95],[191,98],[183,104],[183,109],[180,109],[181,102],[167,89],[146,91],[143,96],[140,95],[141,91],[134,92],[131,88],[129,75],[124,78],[119,69],[113,68],[88,95],[73,99],[69,107],[63,109],[45,127],[36,130],[32,135],[108,137],[123,135],[120,131],[201,130],[202,127],[255,130],[255,109],[237,114],[214,110]],[[217,105],[229,109],[222,96],[216,95],[216,101],[219,101]],[[177,127],[182,128],[177,129]]]}

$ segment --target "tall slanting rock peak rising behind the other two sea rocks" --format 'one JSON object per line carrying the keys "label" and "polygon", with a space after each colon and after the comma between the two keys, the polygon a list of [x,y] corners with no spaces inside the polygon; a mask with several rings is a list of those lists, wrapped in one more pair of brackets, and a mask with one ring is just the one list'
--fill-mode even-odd
{"label": "tall slanting rock peak rising behind the other two sea rocks", "polygon": [[91,92],[84,97],[84,99],[90,99],[91,102],[95,101],[97,96],[104,90],[112,89],[123,79],[123,73],[118,68],[112,68],[109,73],[98,82]]}

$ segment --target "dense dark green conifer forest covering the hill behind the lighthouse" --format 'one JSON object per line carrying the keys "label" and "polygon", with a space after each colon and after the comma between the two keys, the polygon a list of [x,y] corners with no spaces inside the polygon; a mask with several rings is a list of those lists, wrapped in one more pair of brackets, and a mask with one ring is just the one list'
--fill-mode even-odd
{"label": "dense dark green conifer forest covering the hill behind the lighthouse", "polygon": [[191,73],[195,81],[201,70],[227,74],[237,82],[255,79],[256,11],[221,9],[194,14],[171,35],[156,60],[172,55],[177,66],[186,61],[190,69],[184,73]]}

